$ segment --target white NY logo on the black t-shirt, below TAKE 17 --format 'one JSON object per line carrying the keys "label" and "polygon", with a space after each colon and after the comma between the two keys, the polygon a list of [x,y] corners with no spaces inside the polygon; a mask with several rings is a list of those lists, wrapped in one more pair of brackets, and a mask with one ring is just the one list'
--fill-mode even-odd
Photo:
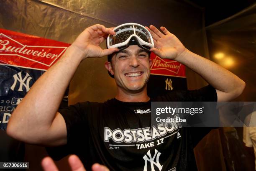
{"label": "white NY logo on the black t-shirt, below TAKE 17", "polygon": [[[148,164],[148,162],[150,162],[151,171],[155,171],[154,165],[159,169],[159,171],[161,171],[163,166],[161,166],[161,164],[159,163],[159,156],[160,155],[161,155],[161,153],[158,152],[155,149],[155,154],[154,154],[154,156],[152,158],[150,150],[148,150],[148,152],[145,154],[145,156],[143,156],[143,159],[145,161],[145,165],[144,165],[144,170],[143,171],[147,171],[147,164]],[[155,161],[155,158],[156,158],[156,161]]]}

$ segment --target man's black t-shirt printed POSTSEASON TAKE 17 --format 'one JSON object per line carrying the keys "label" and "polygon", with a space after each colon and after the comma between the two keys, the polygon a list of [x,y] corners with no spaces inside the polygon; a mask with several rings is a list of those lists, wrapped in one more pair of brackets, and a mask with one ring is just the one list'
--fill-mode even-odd
{"label": "man's black t-shirt printed POSTSEASON TAKE 17", "polygon": [[148,102],[111,99],[71,105],[59,111],[67,125],[67,145],[48,149],[49,155],[58,160],[76,154],[87,171],[93,163],[110,171],[197,170],[193,148],[212,128],[151,126],[151,101],[217,101],[217,94],[208,85]]}

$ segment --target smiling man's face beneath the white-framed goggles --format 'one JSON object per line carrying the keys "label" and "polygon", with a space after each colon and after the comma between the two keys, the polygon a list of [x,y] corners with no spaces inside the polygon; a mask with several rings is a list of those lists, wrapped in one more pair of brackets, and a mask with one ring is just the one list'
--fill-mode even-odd
{"label": "smiling man's face beneath the white-framed goggles", "polygon": [[151,64],[147,51],[137,45],[131,45],[114,54],[112,67],[108,70],[114,74],[119,88],[128,92],[140,92],[148,82]]}

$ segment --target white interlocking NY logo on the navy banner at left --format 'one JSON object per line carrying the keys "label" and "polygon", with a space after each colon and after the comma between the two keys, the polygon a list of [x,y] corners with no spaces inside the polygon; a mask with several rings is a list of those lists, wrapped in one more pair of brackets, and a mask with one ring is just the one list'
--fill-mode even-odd
{"label": "white interlocking NY logo on the navy banner at left", "polygon": [[[27,92],[28,92],[28,90],[30,90],[29,83],[30,83],[30,80],[32,79],[32,77],[27,72],[26,72],[26,76],[24,78],[22,78],[22,76],[21,76],[21,71],[18,74],[13,75],[13,78],[14,78],[14,82],[13,82],[12,87],[10,87],[11,90],[14,91],[17,81],[20,82],[20,87],[19,87],[18,91],[22,92],[23,86],[26,88]],[[26,84],[25,84],[25,81],[26,81]]]}

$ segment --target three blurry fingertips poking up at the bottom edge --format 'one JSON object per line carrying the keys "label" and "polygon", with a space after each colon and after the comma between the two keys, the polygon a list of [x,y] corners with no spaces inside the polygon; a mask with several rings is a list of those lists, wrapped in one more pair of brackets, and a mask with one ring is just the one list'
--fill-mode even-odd
{"label": "three blurry fingertips poking up at the bottom edge", "polygon": [[[68,161],[72,171],[86,171],[83,163],[76,155],[69,156]],[[41,164],[44,171],[59,171],[50,157],[45,157]],[[106,166],[95,163],[92,165],[92,171],[109,171],[109,169]]]}

